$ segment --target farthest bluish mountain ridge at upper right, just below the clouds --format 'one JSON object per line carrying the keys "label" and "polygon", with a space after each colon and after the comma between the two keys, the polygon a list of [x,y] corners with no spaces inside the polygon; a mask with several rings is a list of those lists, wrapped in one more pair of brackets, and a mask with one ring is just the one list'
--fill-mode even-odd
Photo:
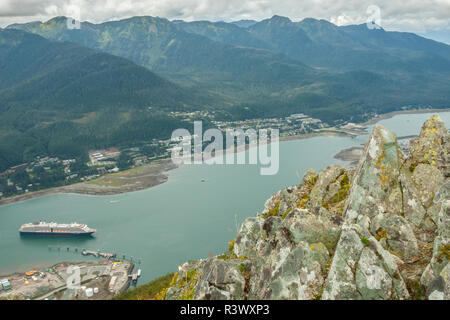
{"label": "farthest bluish mountain ridge at upper right, just below the clouds", "polygon": [[313,18],[292,22],[273,16],[241,28],[240,36],[233,38],[225,25],[203,22],[201,28],[197,22],[180,24],[186,31],[214,40],[233,45],[246,41],[252,47],[279,51],[310,66],[335,71],[386,71],[396,65],[410,68],[415,63],[433,67],[436,58],[440,59],[439,68],[450,70],[450,46],[412,33],[370,30],[365,24],[339,27]]}

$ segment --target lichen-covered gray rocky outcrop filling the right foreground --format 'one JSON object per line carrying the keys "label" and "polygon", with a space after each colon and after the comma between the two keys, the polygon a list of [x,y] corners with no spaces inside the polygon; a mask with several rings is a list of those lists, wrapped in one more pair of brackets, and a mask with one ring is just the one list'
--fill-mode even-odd
{"label": "lichen-covered gray rocky outcrop filling the right foreground", "polygon": [[230,250],[180,266],[166,299],[449,299],[449,134],[406,157],[375,126],[354,170],[309,170],[244,221]]}

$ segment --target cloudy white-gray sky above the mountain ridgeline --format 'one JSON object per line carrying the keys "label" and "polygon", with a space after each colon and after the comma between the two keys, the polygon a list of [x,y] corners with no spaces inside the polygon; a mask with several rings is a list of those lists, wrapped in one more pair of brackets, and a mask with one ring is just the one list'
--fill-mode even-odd
{"label": "cloudy white-gray sky above the mountain ridgeline", "polygon": [[[306,17],[338,25],[364,23],[380,9],[387,30],[410,31],[450,41],[450,0],[0,0],[0,27],[45,21],[54,16],[103,22],[136,15],[183,20],[262,20],[275,14],[294,21]],[[79,10],[77,9],[79,8]]]}

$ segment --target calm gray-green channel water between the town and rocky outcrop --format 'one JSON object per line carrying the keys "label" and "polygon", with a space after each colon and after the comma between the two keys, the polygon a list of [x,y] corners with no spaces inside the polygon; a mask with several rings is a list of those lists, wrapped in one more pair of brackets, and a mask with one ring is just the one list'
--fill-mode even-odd
{"label": "calm gray-green channel water between the town and rocky outcrop", "polygon": [[[399,137],[410,136],[431,114],[400,114],[380,123]],[[438,114],[448,127],[450,112]],[[240,223],[260,211],[272,193],[298,183],[309,168],[347,164],[334,155],[361,146],[367,137],[284,141],[280,170],[273,176],[261,176],[256,165],[185,165],[170,171],[168,182],[147,190],[115,196],[57,194],[2,206],[0,275],[81,259],[49,246],[134,257],[140,260],[140,283],[176,271],[188,259],[226,250]],[[22,224],[39,220],[80,221],[97,232],[92,238],[20,237]]]}

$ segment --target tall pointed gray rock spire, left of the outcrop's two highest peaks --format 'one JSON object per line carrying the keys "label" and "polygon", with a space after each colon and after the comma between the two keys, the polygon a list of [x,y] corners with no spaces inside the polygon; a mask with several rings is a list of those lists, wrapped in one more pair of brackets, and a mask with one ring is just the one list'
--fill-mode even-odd
{"label": "tall pointed gray rock spire, left of the outcrop's two highest peaks", "polygon": [[[381,246],[375,250],[375,246],[370,245],[377,242],[370,233],[372,221],[376,220],[380,227],[386,226],[394,221],[392,217],[402,212],[399,169],[397,137],[382,126],[375,126],[352,181],[344,226],[328,274],[323,299],[409,297],[397,266],[391,264],[387,270],[380,267],[389,264],[391,254]],[[407,232],[409,230],[405,227],[404,221],[398,219],[395,221],[401,224],[402,229],[396,230],[397,235],[391,232],[391,239],[388,241],[393,241],[395,247],[398,243],[414,242],[411,238],[414,235]],[[399,241],[400,238],[403,241]],[[394,242],[395,239],[398,239],[398,243]],[[388,242],[388,247],[389,245],[392,244]],[[417,247],[417,244],[415,246]],[[360,263],[364,263],[365,271],[373,272],[372,277],[361,276],[364,274],[361,272],[359,277],[355,276]],[[369,289],[374,285],[374,277],[380,287]]]}

